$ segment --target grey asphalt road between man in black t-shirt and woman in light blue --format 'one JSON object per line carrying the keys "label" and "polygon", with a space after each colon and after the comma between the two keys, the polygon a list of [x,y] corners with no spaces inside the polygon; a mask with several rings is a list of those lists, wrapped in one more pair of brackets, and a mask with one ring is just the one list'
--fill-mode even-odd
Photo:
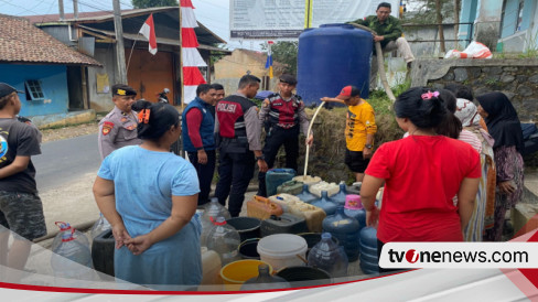
{"label": "grey asphalt road between man in black t-shirt and woman in light blue", "polygon": [[96,172],[101,162],[97,133],[45,142],[41,153],[32,157],[39,192],[62,187],[88,172]]}

